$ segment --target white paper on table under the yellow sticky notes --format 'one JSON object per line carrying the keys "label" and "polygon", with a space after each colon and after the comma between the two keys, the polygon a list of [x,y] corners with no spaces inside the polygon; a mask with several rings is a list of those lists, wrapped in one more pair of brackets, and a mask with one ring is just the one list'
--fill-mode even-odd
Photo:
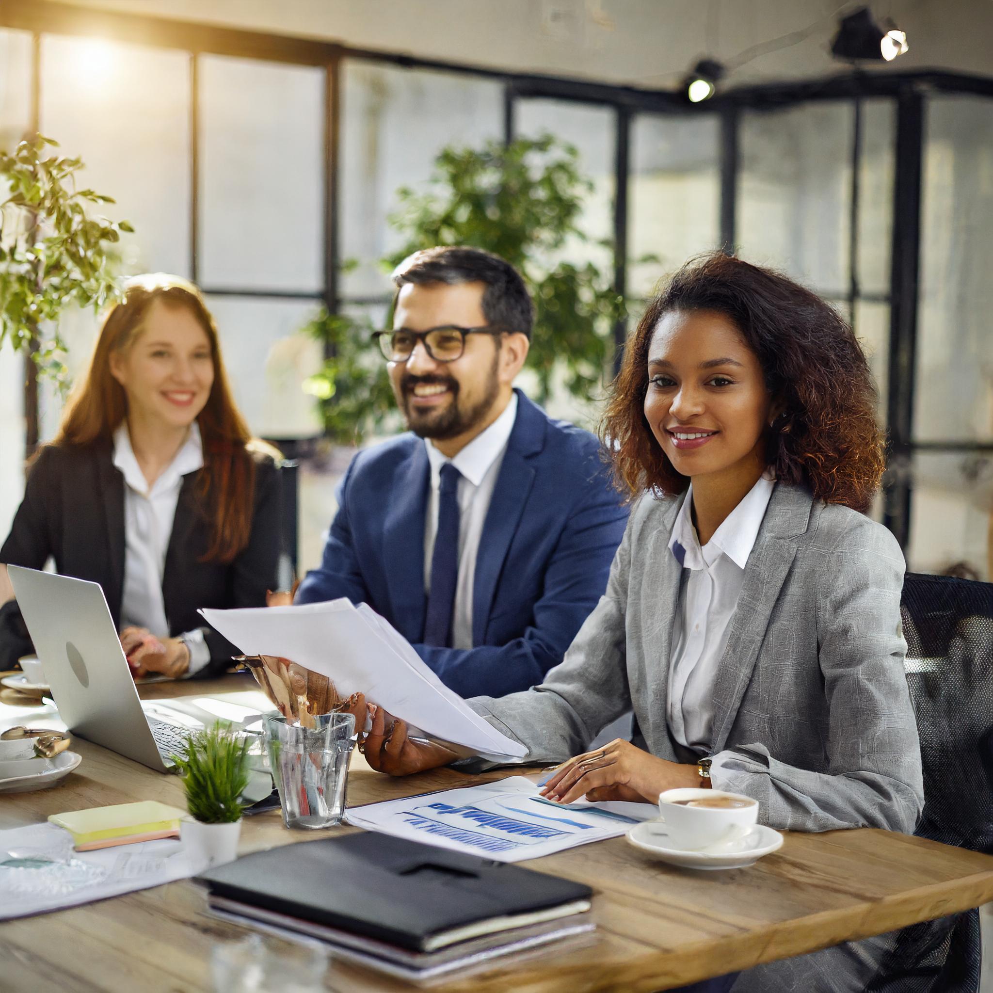
{"label": "white paper on table under the yellow sticky notes", "polygon": [[0,921],[147,890],[196,876],[207,865],[169,838],[75,852],[69,831],[56,824],[0,831]]}

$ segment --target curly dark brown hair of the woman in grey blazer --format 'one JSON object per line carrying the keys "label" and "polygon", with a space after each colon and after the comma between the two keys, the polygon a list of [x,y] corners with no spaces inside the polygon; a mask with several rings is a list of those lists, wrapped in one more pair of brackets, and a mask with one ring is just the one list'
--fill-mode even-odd
{"label": "curly dark brown hair of the woman in grey blazer", "polygon": [[659,448],[643,405],[651,336],[670,311],[715,311],[734,323],[759,358],[782,413],[766,458],[783,483],[828,503],[868,510],[885,467],[877,391],[852,329],[785,276],[715,252],[691,259],[650,301],[627,343],[601,431],[618,485],[632,498],[673,496],[689,480]]}

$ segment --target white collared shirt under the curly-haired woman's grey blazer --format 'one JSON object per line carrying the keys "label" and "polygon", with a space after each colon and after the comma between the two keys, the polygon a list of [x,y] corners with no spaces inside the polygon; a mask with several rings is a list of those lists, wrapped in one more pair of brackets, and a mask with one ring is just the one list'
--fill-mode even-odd
{"label": "white collared shirt under the curly-haired woman's grey blazer", "polygon": [[666,717],[672,737],[703,754],[713,745],[714,686],[728,625],[775,486],[763,476],[702,548],[690,515],[690,486],[669,538],[669,550],[685,571],[672,626]]}

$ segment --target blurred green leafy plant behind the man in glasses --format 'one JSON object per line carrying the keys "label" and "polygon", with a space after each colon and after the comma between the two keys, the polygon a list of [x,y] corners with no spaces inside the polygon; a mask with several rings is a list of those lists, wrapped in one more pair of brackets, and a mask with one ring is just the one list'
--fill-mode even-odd
{"label": "blurred green leafy plant behind the man in glasses", "polygon": [[[527,367],[537,380],[535,398],[547,401],[560,372],[572,395],[596,399],[610,375],[613,331],[626,302],[610,273],[569,258],[589,240],[579,222],[592,189],[576,149],[550,135],[480,149],[450,146],[435,160],[426,188],[397,192],[389,223],[404,243],[383,265],[392,268],[410,252],[439,244],[496,252],[523,273],[534,299]],[[370,338],[377,329],[324,312],[307,330],[327,347],[323,369],[306,388],[321,402],[328,435],[361,444],[372,431],[388,432],[389,381]]]}

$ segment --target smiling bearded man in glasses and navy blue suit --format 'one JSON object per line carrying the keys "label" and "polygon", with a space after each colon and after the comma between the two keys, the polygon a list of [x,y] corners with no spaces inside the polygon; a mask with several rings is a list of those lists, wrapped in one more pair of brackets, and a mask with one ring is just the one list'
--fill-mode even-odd
{"label": "smiling bearded man in glasses and navy blue suit", "polygon": [[378,334],[410,431],[359,452],[298,604],[367,603],[462,696],[539,683],[607,587],[627,522],[597,439],[512,382],[533,307],[475,248],[416,252]]}

